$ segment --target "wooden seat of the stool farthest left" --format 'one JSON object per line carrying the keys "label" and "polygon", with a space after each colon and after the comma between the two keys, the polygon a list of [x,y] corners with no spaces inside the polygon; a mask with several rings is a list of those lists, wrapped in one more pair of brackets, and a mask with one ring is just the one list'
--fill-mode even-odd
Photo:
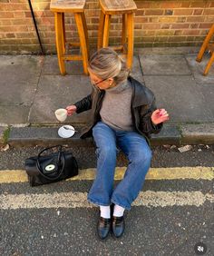
{"label": "wooden seat of the stool farthest left", "polygon": [[86,0],[52,0],[50,9],[53,12],[82,13]]}

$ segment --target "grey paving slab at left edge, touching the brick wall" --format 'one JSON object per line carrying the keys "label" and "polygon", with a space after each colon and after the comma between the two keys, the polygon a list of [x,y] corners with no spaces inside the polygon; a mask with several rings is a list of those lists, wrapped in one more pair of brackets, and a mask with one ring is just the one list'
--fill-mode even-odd
{"label": "grey paving slab at left edge, touching the brick wall", "polygon": [[42,59],[38,56],[0,56],[0,104],[30,105],[38,84]]}

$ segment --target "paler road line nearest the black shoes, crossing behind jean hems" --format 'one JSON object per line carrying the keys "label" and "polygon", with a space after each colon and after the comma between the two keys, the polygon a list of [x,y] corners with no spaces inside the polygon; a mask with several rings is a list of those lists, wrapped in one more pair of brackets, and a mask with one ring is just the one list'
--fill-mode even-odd
{"label": "paler road line nearest the black shoes, crossing behind jean hems", "polygon": [[[197,206],[204,202],[214,202],[214,194],[202,192],[140,192],[133,202],[134,206],[166,207]],[[41,194],[2,194],[0,208],[12,209],[50,209],[50,208],[91,208],[87,201],[87,192],[53,192]]]}

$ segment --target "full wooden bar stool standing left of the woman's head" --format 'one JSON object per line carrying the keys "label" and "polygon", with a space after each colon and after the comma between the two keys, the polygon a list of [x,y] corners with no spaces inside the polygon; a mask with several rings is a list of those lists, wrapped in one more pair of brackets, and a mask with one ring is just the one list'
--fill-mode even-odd
{"label": "full wooden bar stool standing left of the woman's head", "polygon": [[[61,74],[66,74],[64,61],[83,60],[83,70],[88,74],[88,31],[84,16],[85,0],[51,0],[50,9],[54,13],[55,37],[58,62]],[[80,43],[67,43],[65,38],[64,13],[73,13],[77,25]],[[69,46],[80,46],[81,55],[66,54],[66,48]]]}

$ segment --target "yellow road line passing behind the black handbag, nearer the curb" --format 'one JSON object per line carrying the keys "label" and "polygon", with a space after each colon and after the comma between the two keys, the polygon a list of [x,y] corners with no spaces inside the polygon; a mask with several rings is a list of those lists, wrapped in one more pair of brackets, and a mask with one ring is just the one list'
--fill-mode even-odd
{"label": "yellow road line passing behind the black handbag, nearer the curb", "polygon": [[[79,175],[68,181],[93,180],[96,169],[83,169]],[[115,180],[121,180],[126,167],[117,167]],[[214,167],[173,167],[173,168],[151,168],[146,175],[146,180],[213,180]],[[0,183],[27,182],[27,175],[24,170],[2,170],[0,171]]]}

